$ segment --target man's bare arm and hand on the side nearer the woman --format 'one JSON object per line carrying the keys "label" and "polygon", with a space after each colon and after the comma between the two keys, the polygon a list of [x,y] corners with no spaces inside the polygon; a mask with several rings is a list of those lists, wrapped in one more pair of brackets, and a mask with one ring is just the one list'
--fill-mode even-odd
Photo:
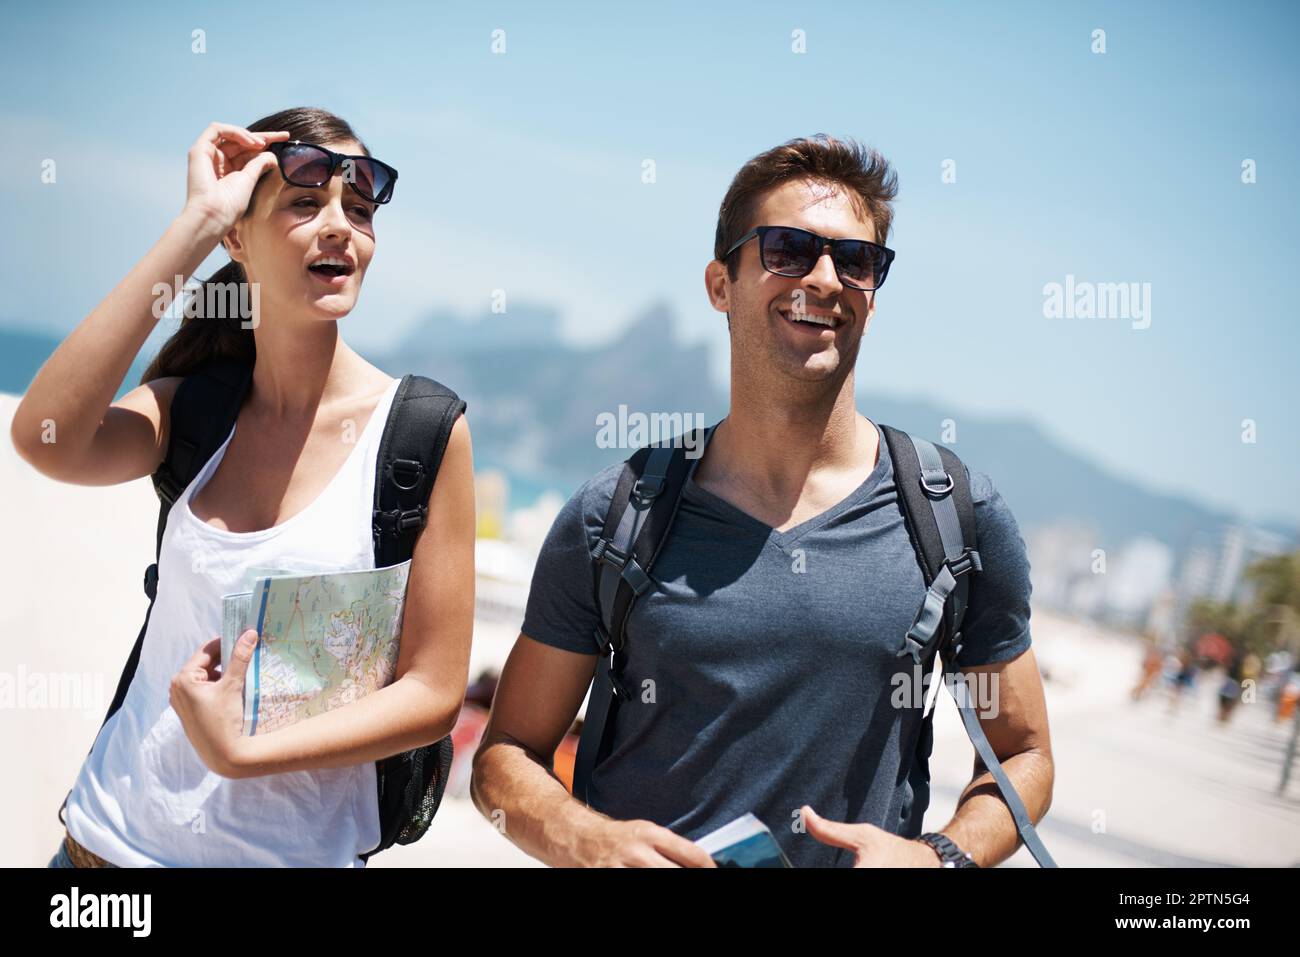
{"label": "man's bare arm and hand on the side nearer the woman", "polygon": [[469,793],[524,853],[552,867],[712,866],[694,843],[650,820],[615,820],[573,798],[552,759],[595,672],[594,654],[520,635],[506,661]]}

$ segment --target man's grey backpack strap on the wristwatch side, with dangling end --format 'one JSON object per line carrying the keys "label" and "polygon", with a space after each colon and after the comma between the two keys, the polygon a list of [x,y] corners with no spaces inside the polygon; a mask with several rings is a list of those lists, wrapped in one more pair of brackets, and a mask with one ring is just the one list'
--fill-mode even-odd
{"label": "man's grey backpack strap on the wristwatch side, with dangling end", "polygon": [[[965,681],[957,676],[961,625],[970,598],[970,577],[983,568],[976,551],[970,472],[949,449],[909,436],[889,425],[881,425],[880,430],[885,436],[893,460],[898,507],[927,585],[916,619],[898,648],[898,657],[910,655],[928,670],[935,655],[939,655],[944,684],[957,702],[966,733],[975,745],[980,761],[993,775],[1020,837],[1040,866],[1056,867],[1056,861],[1034,830],[1034,822],[1030,820],[1020,796],[993,753],[975,709],[967,701]],[[928,722],[932,719],[933,711],[924,718],[923,740],[932,740],[927,733]]]}

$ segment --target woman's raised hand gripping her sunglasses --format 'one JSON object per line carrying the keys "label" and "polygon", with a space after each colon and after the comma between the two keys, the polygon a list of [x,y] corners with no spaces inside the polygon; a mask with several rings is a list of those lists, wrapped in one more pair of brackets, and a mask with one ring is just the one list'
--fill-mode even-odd
{"label": "woman's raised hand gripping her sunglasses", "polygon": [[186,209],[228,231],[248,208],[263,173],[276,168],[266,146],[289,139],[289,133],[250,133],[242,126],[212,124],[190,147]]}

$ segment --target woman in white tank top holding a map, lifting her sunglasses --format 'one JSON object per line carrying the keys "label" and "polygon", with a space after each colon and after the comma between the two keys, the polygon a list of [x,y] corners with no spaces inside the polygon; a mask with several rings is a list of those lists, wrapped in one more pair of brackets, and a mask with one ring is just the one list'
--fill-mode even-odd
{"label": "woman in white tank top holding a map, lifting her sunglasses", "polygon": [[[324,185],[299,185],[308,153],[324,164]],[[374,761],[437,741],[455,723],[474,586],[464,416],[416,540],[391,684],[250,737],[240,733],[237,679],[256,633],[244,632],[222,672],[220,646],[209,642],[221,596],[240,590],[254,566],[373,566],[377,445],[399,380],[361,359],[338,329],[356,304],[376,211],[396,178],[367,157],[351,127],[318,109],[247,129],[211,125],[188,152],[181,215],[18,406],[14,445],[40,472],[125,482],[161,463],[185,376],[217,358],[254,363],[235,428],[172,507],[135,677],[82,766],[51,866],[364,866],[359,854],[380,839]],[[208,285],[247,283],[239,290],[252,295],[229,299],[251,300],[256,315],[186,319],[142,385],[110,402],[161,315],[156,290],[190,276],[217,242],[231,263]],[[43,439],[51,423],[55,442]]]}

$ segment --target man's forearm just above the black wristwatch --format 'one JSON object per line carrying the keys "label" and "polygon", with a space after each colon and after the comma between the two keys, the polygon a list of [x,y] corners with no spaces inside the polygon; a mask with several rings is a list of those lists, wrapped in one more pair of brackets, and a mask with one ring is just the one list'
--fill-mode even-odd
{"label": "man's forearm just above the black wristwatch", "polygon": [[[1030,820],[1037,824],[1052,805],[1056,774],[1052,755],[1039,750],[1022,752],[1004,761],[1002,770],[1024,802]],[[982,771],[971,779],[957,801],[953,819],[941,831],[980,867],[1002,863],[1020,845],[1015,818],[991,771]]]}

